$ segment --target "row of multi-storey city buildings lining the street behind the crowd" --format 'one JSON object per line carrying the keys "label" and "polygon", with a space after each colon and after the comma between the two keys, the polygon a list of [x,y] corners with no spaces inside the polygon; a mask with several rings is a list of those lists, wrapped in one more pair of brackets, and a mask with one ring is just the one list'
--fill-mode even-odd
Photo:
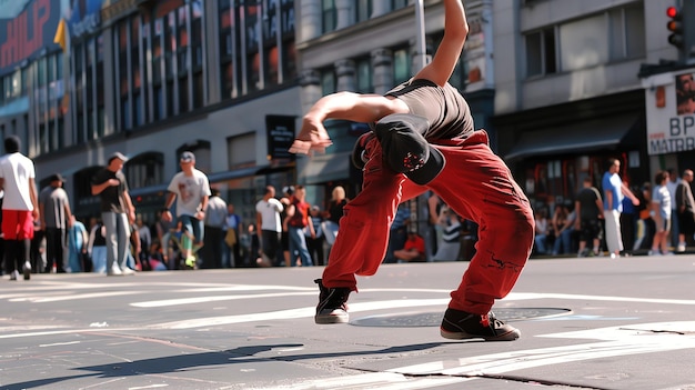
{"label": "row of multi-storey city buildings lining the street behind the crowd", "polygon": [[[465,1],[451,83],[534,203],[574,199],[586,176],[598,184],[610,157],[631,184],[693,168],[687,150],[648,150],[638,73],[677,59],[671,4]],[[333,147],[294,157],[301,117],[328,93],[409,79],[436,50],[443,11],[441,0],[18,0],[0,11],[0,132],[24,140],[40,181],[68,178],[80,216],[98,210],[89,181],[117,150],[151,214],[183,150],[244,219],[269,183],[305,184],[316,204],[338,184],[353,197],[349,156],[367,127],[329,122]]]}

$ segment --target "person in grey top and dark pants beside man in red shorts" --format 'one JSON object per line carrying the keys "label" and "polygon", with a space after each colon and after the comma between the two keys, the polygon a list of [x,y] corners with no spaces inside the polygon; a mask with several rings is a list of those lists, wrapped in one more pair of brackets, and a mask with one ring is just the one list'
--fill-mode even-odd
{"label": "person in grey top and dark pants beside man in red shorts", "polygon": [[66,252],[67,233],[72,223],[72,212],[68,192],[62,186],[66,181],[60,173],[53,173],[50,184],[39,193],[39,213],[41,214],[41,230],[46,233],[46,270],[50,273],[53,268],[58,273],[66,272],[63,253]]}

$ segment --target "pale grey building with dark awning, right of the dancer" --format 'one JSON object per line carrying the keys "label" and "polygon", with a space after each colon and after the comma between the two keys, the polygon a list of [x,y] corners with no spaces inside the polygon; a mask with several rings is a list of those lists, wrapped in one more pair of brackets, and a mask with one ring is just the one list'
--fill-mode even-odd
{"label": "pale grey building with dark awning, right of the dancer", "polygon": [[[631,187],[689,153],[648,152],[641,70],[676,60],[667,0],[515,0],[494,3],[497,151],[535,207],[598,188],[608,158]],[[552,211],[552,210],[551,210]]]}

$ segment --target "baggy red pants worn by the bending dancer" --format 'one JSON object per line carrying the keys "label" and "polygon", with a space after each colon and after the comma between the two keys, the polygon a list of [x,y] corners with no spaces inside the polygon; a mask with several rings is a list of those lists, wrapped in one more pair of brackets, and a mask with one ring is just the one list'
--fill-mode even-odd
{"label": "baggy red pants worn by the bending dancer", "polygon": [[512,290],[533,246],[528,199],[490,149],[485,131],[447,142],[436,146],[446,158],[444,170],[424,187],[383,164],[376,139],[367,143],[362,192],[344,208],[324,286],[356,291],[355,274],[374,274],[384,258],[397,204],[433,190],[459,216],[479,224],[476,253],[449,307],[484,314]]}

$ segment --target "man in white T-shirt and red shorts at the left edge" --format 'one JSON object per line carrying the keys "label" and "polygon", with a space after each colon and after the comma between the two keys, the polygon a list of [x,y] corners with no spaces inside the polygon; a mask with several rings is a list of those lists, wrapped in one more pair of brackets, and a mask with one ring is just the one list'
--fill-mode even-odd
{"label": "man in white T-shirt and red shorts at the left edge", "polygon": [[4,139],[7,154],[0,158],[4,271],[10,280],[19,279],[19,264],[24,280],[31,279],[31,239],[34,221],[40,218],[33,161],[20,149],[19,137],[9,136]]}

